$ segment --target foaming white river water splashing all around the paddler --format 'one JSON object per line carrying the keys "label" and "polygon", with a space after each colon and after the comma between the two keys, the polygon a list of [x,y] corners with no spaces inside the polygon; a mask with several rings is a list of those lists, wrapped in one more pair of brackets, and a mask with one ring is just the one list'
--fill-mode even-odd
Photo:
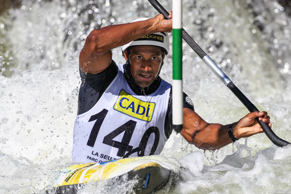
{"label": "foaming white river water splashing all around the paddler", "polygon": [[[171,1],[159,2],[171,10]],[[24,0],[0,15],[0,193],[53,192],[59,169],[72,164],[79,53],[87,35],[156,14],[145,0]],[[290,6],[183,0],[183,28],[290,142]],[[169,83],[171,52],[160,74]],[[120,48],[113,60],[125,63]],[[230,124],[248,113],[185,42],[183,91],[206,122]],[[184,169],[171,193],[291,193],[291,146],[277,147],[265,134],[204,152],[173,132],[161,155]],[[128,184],[106,191],[102,185],[79,193],[129,191]]]}

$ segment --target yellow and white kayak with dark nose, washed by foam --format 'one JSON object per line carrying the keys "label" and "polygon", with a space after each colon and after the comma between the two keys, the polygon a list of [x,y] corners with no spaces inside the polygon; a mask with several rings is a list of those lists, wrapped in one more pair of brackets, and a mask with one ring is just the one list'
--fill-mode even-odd
{"label": "yellow and white kayak with dark nose, washed by foam", "polygon": [[163,189],[170,191],[178,179],[179,164],[164,156],[143,156],[105,161],[101,163],[75,164],[61,169],[56,180],[56,193],[77,194],[87,183],[98,184],[122,179],[133,180],[131,192],[153,193]]}

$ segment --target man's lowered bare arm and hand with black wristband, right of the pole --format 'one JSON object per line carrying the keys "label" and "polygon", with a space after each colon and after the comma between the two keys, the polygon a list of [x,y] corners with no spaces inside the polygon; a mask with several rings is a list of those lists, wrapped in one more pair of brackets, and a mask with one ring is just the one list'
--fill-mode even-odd
{"label": "man's lowered bare arm and hand with black wristband, right of the pole", "polygon": [[[197,113],[189,108],[183,108],[184,128],[180,132],[181,135],[196,147],[204,150],[215,150],[224,147],[233,141],[228,135],[228,125],[209,124],[205,122]],[[233,123],[232,131],[236,139],[249,137],[257,133],[262,133],[263,130],[255,120],[268,123],[271,127],[270,117],[267,112],[252,112],[247,114],[238,122]]]}

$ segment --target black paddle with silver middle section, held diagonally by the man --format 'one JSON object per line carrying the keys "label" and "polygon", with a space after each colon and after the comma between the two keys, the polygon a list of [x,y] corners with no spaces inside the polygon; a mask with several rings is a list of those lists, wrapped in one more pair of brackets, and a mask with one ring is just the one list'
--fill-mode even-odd
{"label": "black paddle with silver middle section, held diagonally by the man", "polygon": [[[166,19],[170,19],[169,13],[163,8],[163,6],[157,0],[148,0],[150,4]],[[175,1],[175,0],[173,0]],[[199,45],[190,37],[190,35],[182,29],[182,37],[188,43],[188,45],[198,54],[198,56],[206,63],[208,67],[221,79],[221,81],[236,95],[236,97],[246,106],[250,112],[259,111],[258,108],[249,101],[249,99],[233,84],[233,82],[226,76],[226,74],[214,63],[214,61],[199,47]],[[260,121],[256,118],[267,137],[277,146],[283,147],[290,144],[272,131],[267,123]]]}

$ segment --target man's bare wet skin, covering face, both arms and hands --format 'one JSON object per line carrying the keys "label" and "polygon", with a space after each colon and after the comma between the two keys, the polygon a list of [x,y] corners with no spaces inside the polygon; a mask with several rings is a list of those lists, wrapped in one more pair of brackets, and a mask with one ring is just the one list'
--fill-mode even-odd
{"label": "man's bare wet skin, covering face, both arms and hands", "polygon": [[[172,14],[169,15],[172,18]],[[106,26],[93,30],[86,38],[84,48],[79,57],[79,67],[85,73],[97,74],[104,71],[112,60],[111,49],[125,45],[144,35],[172,30],[172,21],[164,19],[159,14],[145,21]],[[157,76],[164,54],[159,47],[138,46],[130,49],[129,55],[125,52],[125,59],[131,63],[130,71],[134,81],[140,87],[149,86]],[[269,124],[270,117],[266,112],[252,112],[233,124],[235,138],[249,137],[262,133],[263,130],[255,120]],[[183,108],[184,128],[182,136],[196,147],[201,149],[219,149],[232,140],[228,136],[228,125],[209,124],[197,113],[189,108]]]}

